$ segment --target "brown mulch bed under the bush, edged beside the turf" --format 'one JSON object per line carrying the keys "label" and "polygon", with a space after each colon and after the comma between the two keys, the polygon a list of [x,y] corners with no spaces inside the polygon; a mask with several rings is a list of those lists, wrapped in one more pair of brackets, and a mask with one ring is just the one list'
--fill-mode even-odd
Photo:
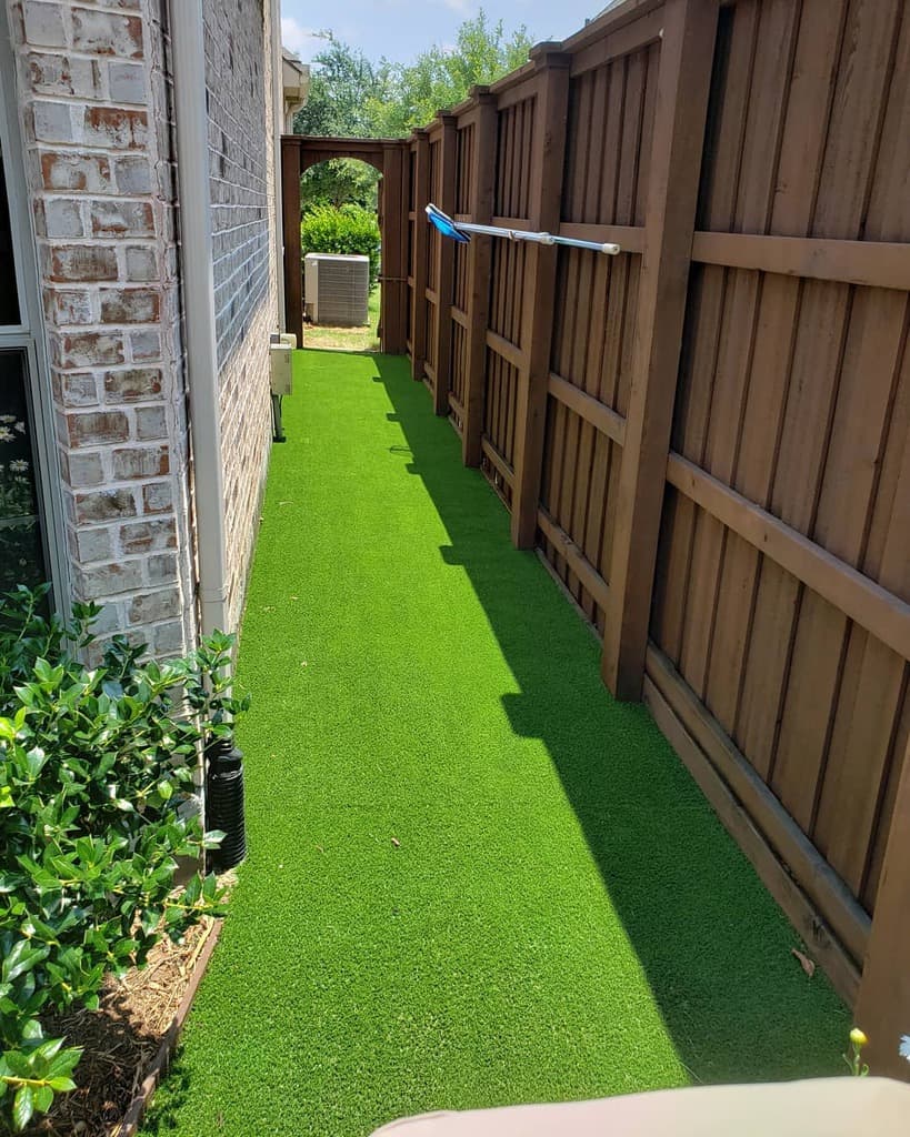
{"label": "brown mulch bed under the bush, edged beside the turf", "polygon": [[108,979],[98,1011],[42,1020],[49,1038],[82,1046],[77,1089],[60,1094],[26,1137],[121,1137],[124,1118],[154,1063],[183,1001],[215,922],[191,928],[179,944],[165,938],[147,965]]}

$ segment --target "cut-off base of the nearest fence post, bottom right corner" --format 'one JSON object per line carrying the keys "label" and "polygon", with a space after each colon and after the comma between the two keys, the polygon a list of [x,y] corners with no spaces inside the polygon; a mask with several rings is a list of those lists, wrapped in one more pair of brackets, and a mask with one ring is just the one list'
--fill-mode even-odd
{"label": "cut-off base of the nearest fence post, bottom right corner", "polygon": [[910,744],[891,819],[854,1022],[869,1037],[872,1073],[910,1080],[897,1047],[910,1035]]}

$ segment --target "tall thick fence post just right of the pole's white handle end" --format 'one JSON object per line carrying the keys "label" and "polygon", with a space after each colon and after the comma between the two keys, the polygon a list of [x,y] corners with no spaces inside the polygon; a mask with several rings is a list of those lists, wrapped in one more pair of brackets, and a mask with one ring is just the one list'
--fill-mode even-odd
{"label": "tall thick fence post just right of the pole's white handle end", "polygon": [[602,673],[642,697],[719,0],[667,0]]}

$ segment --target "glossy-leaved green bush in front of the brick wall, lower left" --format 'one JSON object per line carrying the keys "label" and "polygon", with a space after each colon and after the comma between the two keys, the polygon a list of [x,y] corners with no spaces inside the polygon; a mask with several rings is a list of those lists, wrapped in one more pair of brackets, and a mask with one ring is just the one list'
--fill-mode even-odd
{"label": "glossy-leaved green bush in front of the brick wall, lower left", "polygon": [[42,1015],[97,1007],[162,929],[176,939],[220,911],[213,875],[175,890],[174,873],[223,836],[202,833],[193,771],[246,708],[230,637],[168,664],[118,637],[89,669],[100,609],[75,605],[64,624],[46,594],[0,599],[0,1130],[75,1088],[80,1051],[46,1038]]}

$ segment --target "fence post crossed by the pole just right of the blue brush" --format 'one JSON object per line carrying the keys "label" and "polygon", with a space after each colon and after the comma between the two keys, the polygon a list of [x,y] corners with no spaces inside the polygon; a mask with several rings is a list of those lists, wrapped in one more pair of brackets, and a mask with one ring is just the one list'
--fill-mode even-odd
{"label": "fence post crossed by the pole just right of the blue brush", "polygon": [[[474,168],[471,172],[471,221],[489,225],[496,185],[496,97],[489,88],[475,86]],[[493,239],[473,236],[468,247],[468,331],[465,342],[464,421],[462,458],[465,466],[480,465],[483,433],[483,389],[487,370],[487,321],[490,306]]]}

